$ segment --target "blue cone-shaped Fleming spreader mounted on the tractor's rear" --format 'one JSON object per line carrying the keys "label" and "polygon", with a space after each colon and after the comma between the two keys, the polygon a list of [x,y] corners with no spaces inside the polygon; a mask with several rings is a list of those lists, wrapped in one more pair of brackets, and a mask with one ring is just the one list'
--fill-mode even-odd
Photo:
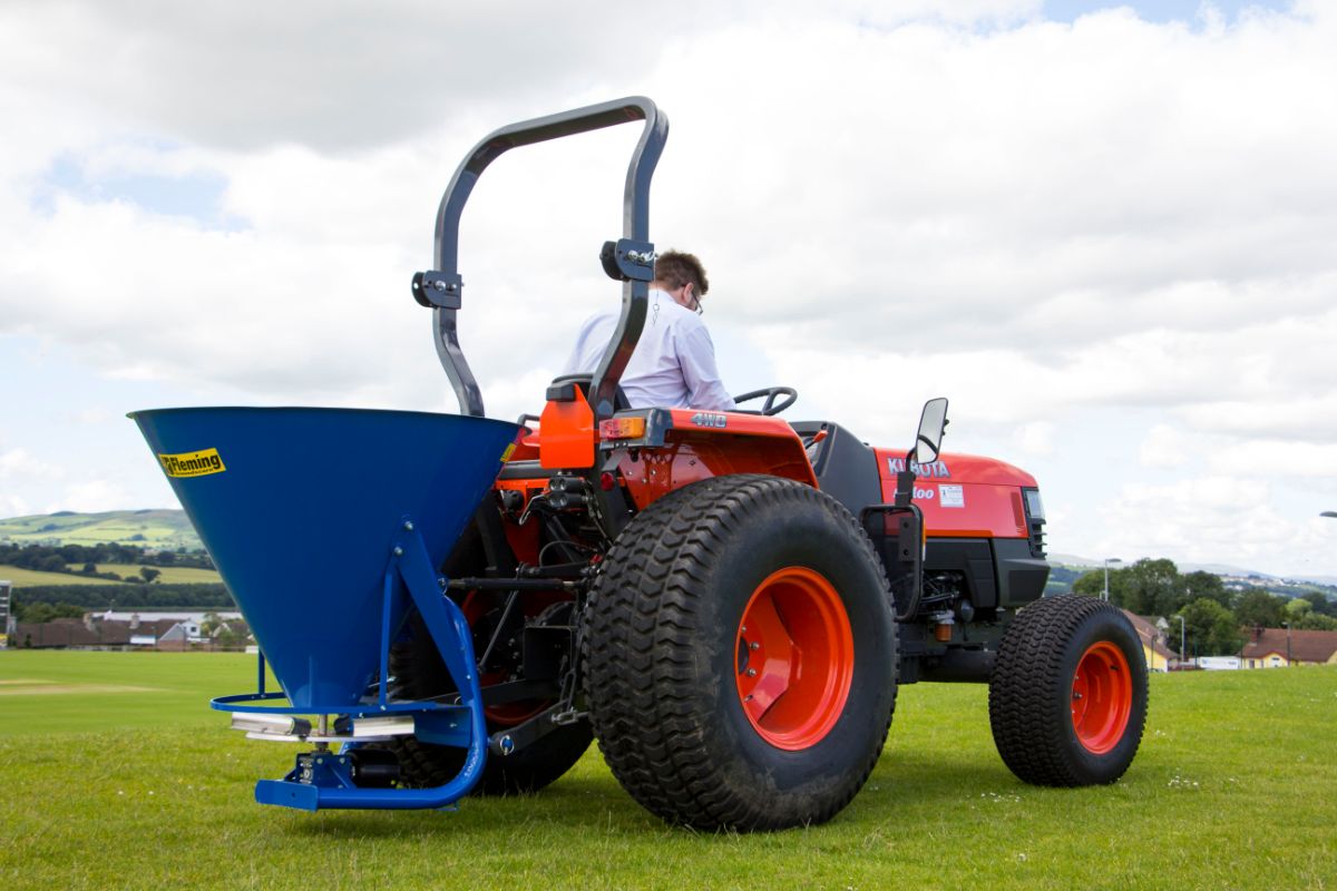
{"label": "blue cone-shaped Fleming spreader mounted on the tractor's rear", "polygon": [[[131,417],[262,653],[258,691],[217,699],[214,708],[235,712],[234,723],[253,735],[316,745],[285,779],[261,780],[255,799],[314,811],[433,808],[467,795],[487,759],[487,728],[469,627],[444,596],[437,566],[519,426],[354,409]],[[457,703],[388,696],[389,647],[410,608],[455,680]],[[265,692],[263,660],[282,693]],[[317,717],[314,729],[303,715]],[[408,732],[467,749],[460,773],[431,789],[360,783],[361,745]]]}

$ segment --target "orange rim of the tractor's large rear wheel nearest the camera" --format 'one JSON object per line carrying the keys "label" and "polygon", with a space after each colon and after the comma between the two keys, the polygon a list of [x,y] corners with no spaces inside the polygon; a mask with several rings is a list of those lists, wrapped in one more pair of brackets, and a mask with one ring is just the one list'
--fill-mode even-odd
{"label": "orange rim of the tractor's large rear wheel nearest the camera", "polygon": [[854,636],[836,588],[789,566],[757,586],[734,648],[738,699],[763,740],[810,748],[840,720],[854,677]]}

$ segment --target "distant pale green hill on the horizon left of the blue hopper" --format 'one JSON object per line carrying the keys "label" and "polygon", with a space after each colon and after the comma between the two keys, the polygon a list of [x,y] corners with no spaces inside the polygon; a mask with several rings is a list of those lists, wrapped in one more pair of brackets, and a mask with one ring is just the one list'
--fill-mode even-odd
{"label": "distant pale green hill on the horizon left of the blue hopper", "polygon": [[202,550],[185,510],[62,510],[35,517],[0,520],[0,541],[44,545],[136,545],[160,550]]}

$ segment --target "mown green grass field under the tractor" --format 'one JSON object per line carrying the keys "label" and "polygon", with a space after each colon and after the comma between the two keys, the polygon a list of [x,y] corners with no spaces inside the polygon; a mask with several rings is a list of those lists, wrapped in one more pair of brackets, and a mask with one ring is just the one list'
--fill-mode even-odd
{"label": "mown green grass field under the tractor", "polygon": [[[545,792],[456,814],[251,801],[294,747],[210,712],[234,655],[0,652],[0,884],[8,888],[1330,888],[1337,668],[1154,676],[1112,787],[1003,767],[987,689],[902,689],[864,792],[774,835],[663,826],[596,752]],[[115,689],[132,688],[132,689]]]}

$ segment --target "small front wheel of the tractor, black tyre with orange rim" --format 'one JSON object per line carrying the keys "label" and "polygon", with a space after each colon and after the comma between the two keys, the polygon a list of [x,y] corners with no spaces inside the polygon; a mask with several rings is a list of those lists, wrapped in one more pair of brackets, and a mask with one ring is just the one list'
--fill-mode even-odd
{"label": "small front wheel of the tractor, black tyre with orange rim", "polygon": [[989,725],[1019,779],[1114,783],[1138,753],[1146,720],[1146,657],[1119,609],[1064,596],[1017,613],[989,680]]}

